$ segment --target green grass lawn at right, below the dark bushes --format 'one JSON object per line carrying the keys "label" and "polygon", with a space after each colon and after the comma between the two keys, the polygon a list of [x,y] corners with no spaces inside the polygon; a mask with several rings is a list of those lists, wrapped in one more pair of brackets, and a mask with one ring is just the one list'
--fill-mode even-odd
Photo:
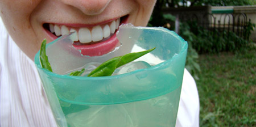
{"label": "green grass lawn at right, below the dark bushes", "polygon": [[200,126],[256,126],[256,48],[201,54]]}

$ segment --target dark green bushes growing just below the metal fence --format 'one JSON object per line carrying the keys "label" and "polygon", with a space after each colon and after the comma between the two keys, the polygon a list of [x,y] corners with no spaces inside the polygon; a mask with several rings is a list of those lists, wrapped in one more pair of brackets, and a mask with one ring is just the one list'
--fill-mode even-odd
{"label": "dark green bushes growing just below the metal fence", "polygon": [[[250,26],[250,27],[249,27]],[[237,36],[236,33],[228,30],[219,31],[217,28],[210,30],[200,27],[197,22],[185,22],[180,25],[180,35],[183,37],[184,31],[190,31],[193,35],[192,46],[199,54],[204,53],[220,53],[220,52],[237,52],[246,49],[250,41],[243,37]],[[249,29],[254,29],[253,24],[247,26]],[[251,32],[251,30],[250,30]],[[246,36],[250,36],[247,32]],[[186,38],[186,37],[184,37]]]}

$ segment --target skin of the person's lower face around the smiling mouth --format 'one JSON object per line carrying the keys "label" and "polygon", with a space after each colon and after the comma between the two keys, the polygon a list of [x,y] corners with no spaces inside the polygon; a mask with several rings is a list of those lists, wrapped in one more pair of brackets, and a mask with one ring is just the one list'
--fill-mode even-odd
{"label": "skin of the person's lower face around the smiling mouth", "polygon": [[127,16],[125,23],[146,26],[156,0],[0,0],[1,18],[15,43],[34,60],[43,39],[57,36],[43,24],[92,30]]}

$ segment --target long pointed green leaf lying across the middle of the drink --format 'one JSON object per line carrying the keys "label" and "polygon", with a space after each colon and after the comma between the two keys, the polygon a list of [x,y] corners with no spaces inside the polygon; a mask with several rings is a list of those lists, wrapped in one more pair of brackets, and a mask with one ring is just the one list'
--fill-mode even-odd
{"label": "long pointed green leaf lying across the middle of the drink", "polygon": [[98,66],[95,70],[90,72],[88,77],[104,77],[104,76],[110,76],[113,74],[114,70],[117,69],[119,66],[125,65],[131,61],[136,60],[137,58],[143,56],[144,54],[147,54],[154,50],[155,48],[145,50],[142,52],[136,52],[136,53],[129,53],[125,54],[124,56],[114,57],[100,66]]}

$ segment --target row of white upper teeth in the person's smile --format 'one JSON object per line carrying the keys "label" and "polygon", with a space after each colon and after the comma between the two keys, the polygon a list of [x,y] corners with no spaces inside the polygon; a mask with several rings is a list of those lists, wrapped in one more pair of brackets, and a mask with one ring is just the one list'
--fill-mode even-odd
{"label": "row of white upper teeth in the person's smile", "polygon": [[118,29],[120,19],[113,20],[110,25],[105,24],[105,26],[94,26],[91,30],[86,27],[82,27],[77,30],[75,28],[68,28],[67,26],[58,26],[56,24],[49,24],[49,30],[54,33],[56,36],[68,35],[70,32],[75,32],[76,40],[80,43],[90,43],[92,41],[100,41],[104,38],[110,36],[111,33],[115,32],[115,29]]}

